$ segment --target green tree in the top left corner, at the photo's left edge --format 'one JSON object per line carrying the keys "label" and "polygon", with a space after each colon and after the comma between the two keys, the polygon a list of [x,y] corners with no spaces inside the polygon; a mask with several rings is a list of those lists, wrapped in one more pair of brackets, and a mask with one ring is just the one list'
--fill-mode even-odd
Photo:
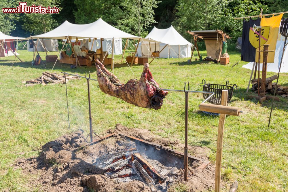
{"label": "green tree in the top left corner, at the photo's left edge", "polygon": [[[19,1],[15,0],[1,0],[0,7],[16,7]],[[9,35],[15,29],[14,21],[19,19],[19,14],[3,14],[2,9],[0,11],[0,31]]]}

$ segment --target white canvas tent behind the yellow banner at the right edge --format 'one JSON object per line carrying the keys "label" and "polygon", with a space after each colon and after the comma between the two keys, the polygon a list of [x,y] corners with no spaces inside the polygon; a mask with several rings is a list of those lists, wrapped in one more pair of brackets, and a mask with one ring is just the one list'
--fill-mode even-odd
{"label": "white canvas tent behind the yellow banner at the right edge", "polygon": [[[284,40],[285,40],[285,37],[283,37],[279,33],[278,38],[277,38],[277,42],[276,42],[274,63],[267,63],[267,71],[278,73],[279,67],[280,67],[280,61],[281,61],[281,57],[282,57],[282,52],[283,52]],[[268,57],[269,57],[269,53],[268,53]],[[252,70],[253,62],[249,62],[248,64],[243,65],[242,67]],[[257,67],[257,70],[258,70],[258,67]],[[260,63],[260,71],[262,71],[262,63]],[[288,73],[288,49],[285,49],[280,72],[281,73]]]}

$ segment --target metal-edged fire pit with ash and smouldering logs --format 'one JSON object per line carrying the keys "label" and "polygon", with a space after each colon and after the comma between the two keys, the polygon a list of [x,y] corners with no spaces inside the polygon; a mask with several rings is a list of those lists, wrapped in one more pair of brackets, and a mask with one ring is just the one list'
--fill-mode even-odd
{"label": "metal-edged fire pit with ash and smouldering logs", "polygon": [[[114,147],[99,150],[103,143]],[[95,147],[95,153],[100,152],[90,155],[87,162],[117,182],[139,180],[151,191],[166,191],[170,184],[183,176],[184,155],[155,143],[125,134],[109,134],[89,145],[92,149]],[[205,169],[210,163],[190,155],[188,159],[191,169]]]}

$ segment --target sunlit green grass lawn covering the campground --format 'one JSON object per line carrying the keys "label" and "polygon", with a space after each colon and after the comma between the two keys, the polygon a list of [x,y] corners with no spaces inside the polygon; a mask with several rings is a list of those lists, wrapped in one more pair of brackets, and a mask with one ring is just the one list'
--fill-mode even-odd
{"label": "sunlit green grass lawn covering the campground", "polygon": [[[0,58],[0,190],[38,191],[37,186],[28,182],[29,178],[37,178],[37,175],[24,176],[21,170],[14,170],[12,164],[17,158],[37,155],[43,144],[65,133],[83,129],[88,134],[87,82],[80,79],[67,84],[71,121],[71,130],[67,130],[65,85],[25,87],[21,83],[40,77],[43,71],[51,71],[54,63],[47,63],[47,69],[43,65],[31,66],[33,52],[20,50],[19,53],[24,63],[16,60],[12,66],[14,56]],[[201,54],[205,55],[205,52]],[[226,66],[201,61],[187,64],[188,58],[170,58],[154,60],[150,70],[160,87],[167,89],[183,89],[184,82],[189,81],[190,90],[201,90],[198,83],[202,79],[217,84],[226,80],[236,83],[240,88],[234,91],[229,105],[240,107],[244,113],[239,117],[226,117],[222,180],[227,181],[227,185],[223,186],[223,191],[228,191],[234,180],[238,180],[238,191],[287,191],[287,99],[280,98],[281,101],[275,104],[272,123],[268,128],[272,102],[260,104],[257,100],[248,99],[248,95],[252,94],[246,93],[251,71],[241,68],[245,62],[239,62],[232,69],[232,65],[240,60],[240,53],[229,54],[230,64]],[[45,61],[45,52],[40,55]],[[115,63],[120,63],[120,60],[121,56],[115,56]],[[125,83],[129,79],[139,78],[143,66],[133,65],[131,69],[135,76],[127,64],[115,64],[114,74]],[[85,71],[90,71],[92,78],[97,78],[94,66],[71,69],[70,65],[57,63],[53,72],[85,75]],[[274,74],[268,72],[267,76]],[[287,86],[288,74],[281,74],[279,82]],[[184,143],[183,93],[170,92],[162,108],[153,110],[108,96],[97,86],[96,81],[91,81],[95,133],[113,129],[116,123],[121,123],[128,128],[149,129],[154,134],[170,140],[179,139]],[[202,95],[189,94],[188,144],[210,148],[209,159],[214,164],[219,118],[200,113],[198,105],[202,101]]]}

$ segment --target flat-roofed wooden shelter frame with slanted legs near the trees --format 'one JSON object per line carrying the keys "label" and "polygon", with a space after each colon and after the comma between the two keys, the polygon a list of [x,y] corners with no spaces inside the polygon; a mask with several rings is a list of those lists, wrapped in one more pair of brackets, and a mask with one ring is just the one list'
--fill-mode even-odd
{"label": "flat-roofed wooden shelter frame with slanted legs near the trees", "polygon": [[[205,40],[216,40],[216,41],[222,41],[223,42],[223,41],[226,41],[226,39],[230,38],[229,35],[227,35],[223,31],[218,30],[218,29],[217,30],[206,30],[206,31],[187,31],[187,33],[192,35],[193,39],[194,39],[194,47],[192,48],[192,54],[191,54],[190,60],[192,59],[195,47],[196,47],[197,52],[198,52],[198,57],[200,58],[200,53],[199,53],[198,45],[197,45],[197,42],[199,39],[204,40],[204,41]],[[221,46],[219,56],[218,56],[218,58],[216,58],[217,62],[220,61],[222,48],[223,48],[223,46]]]}

